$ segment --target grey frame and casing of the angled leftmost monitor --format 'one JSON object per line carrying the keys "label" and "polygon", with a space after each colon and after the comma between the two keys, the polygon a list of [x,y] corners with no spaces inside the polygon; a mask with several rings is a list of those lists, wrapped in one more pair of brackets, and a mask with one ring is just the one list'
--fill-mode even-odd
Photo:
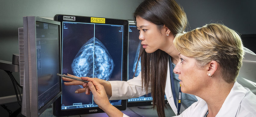
{"label": "grey frame and casing of the angled leftmost monitor", "polygon": [[[22,67],[21,61],[23,61],[23,71],[20,70],[20,75],[23,79],[23,102],[22,102],[22,114],[26,117],[38,117],[53,102],[55,102],[62,94],[61,80],[60,92],[53,96],[53,98],[47,102],[41,109],[38,109],[38,78],[37,78],[37,51],[36,51],[36,22],[44,22],[49,24],[58,25],[59,29],[59,46],[60,43],[60,22],[41,18],[38,16],[23,16],[23,35],[24,46],[19,47],[19,51],[23,48],[24,55],[22,58],[20,55],[20,69]],[[22,44],[20,44],[22,45]],[[61,48],[59,48],[59,54],[61,55]],[[20,53],[21,54],[21,53]],[[61,62],[61,56],[60,56]],[[61,68],[61,64],[59,66]],[[61,70],[61,69],[60,69]],[[59,71],[60,72],[60,71]],[[57,75],[56,75],[57,76]]]}

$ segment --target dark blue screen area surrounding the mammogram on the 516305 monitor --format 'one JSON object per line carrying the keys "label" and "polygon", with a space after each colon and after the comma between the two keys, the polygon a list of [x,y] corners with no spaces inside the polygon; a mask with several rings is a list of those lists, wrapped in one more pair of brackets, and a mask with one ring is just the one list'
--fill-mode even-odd
{"label": "dark blue screen area surrounding the mammogram on the 516305 monitor", "polygon": [[[95,27],[94,27],[95,26]],[[94,34],[95,32],[95,34]],[[113,73],[109,80],[122,79],[122,27],[104,24],[63,22],[63,56],[62,73],[74,74],[71,64],[80,48],[92,37],[104,44],[114,62]],[[100,66],[100,65],[97,65]],[[96,67],[97,67],[96,66]],[[72,106],[73,103],[91,104],[92,94],[75,94],[79,86],[62,85],[62,106]]]}

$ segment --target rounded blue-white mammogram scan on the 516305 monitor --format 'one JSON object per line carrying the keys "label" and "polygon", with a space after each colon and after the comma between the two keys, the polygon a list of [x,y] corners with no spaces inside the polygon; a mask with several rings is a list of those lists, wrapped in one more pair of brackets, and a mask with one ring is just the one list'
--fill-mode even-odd
{"label": "rounded blue-white mammogram scan on the 516305 monitor", "polygon": [[75,76],[109,80],[114,62],[104,44],[92,37],[77,52],[71,67]]}

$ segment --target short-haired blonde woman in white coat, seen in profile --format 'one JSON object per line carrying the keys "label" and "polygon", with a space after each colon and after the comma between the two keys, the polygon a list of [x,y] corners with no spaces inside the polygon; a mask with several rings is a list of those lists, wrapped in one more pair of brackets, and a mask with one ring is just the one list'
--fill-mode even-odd
{"label": "short-haired blonde woman in white coat, seen in profile", "polygon": [[181,117],[255,117],[256,95],[236,78],[244,55],[240,36],[222,24],[209,24],[174,39],[181,91],[198,101]]}

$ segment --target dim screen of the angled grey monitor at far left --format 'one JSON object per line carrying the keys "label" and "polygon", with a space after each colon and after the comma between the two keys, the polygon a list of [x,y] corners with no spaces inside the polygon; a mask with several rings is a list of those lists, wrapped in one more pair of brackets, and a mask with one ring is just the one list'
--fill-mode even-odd
{"label": "dim screen of the angled grey monitor at far left", "polygon": [[36,52],[38,76],[38,109],[60,92],[60,42],[59,26],[36,22]]}

